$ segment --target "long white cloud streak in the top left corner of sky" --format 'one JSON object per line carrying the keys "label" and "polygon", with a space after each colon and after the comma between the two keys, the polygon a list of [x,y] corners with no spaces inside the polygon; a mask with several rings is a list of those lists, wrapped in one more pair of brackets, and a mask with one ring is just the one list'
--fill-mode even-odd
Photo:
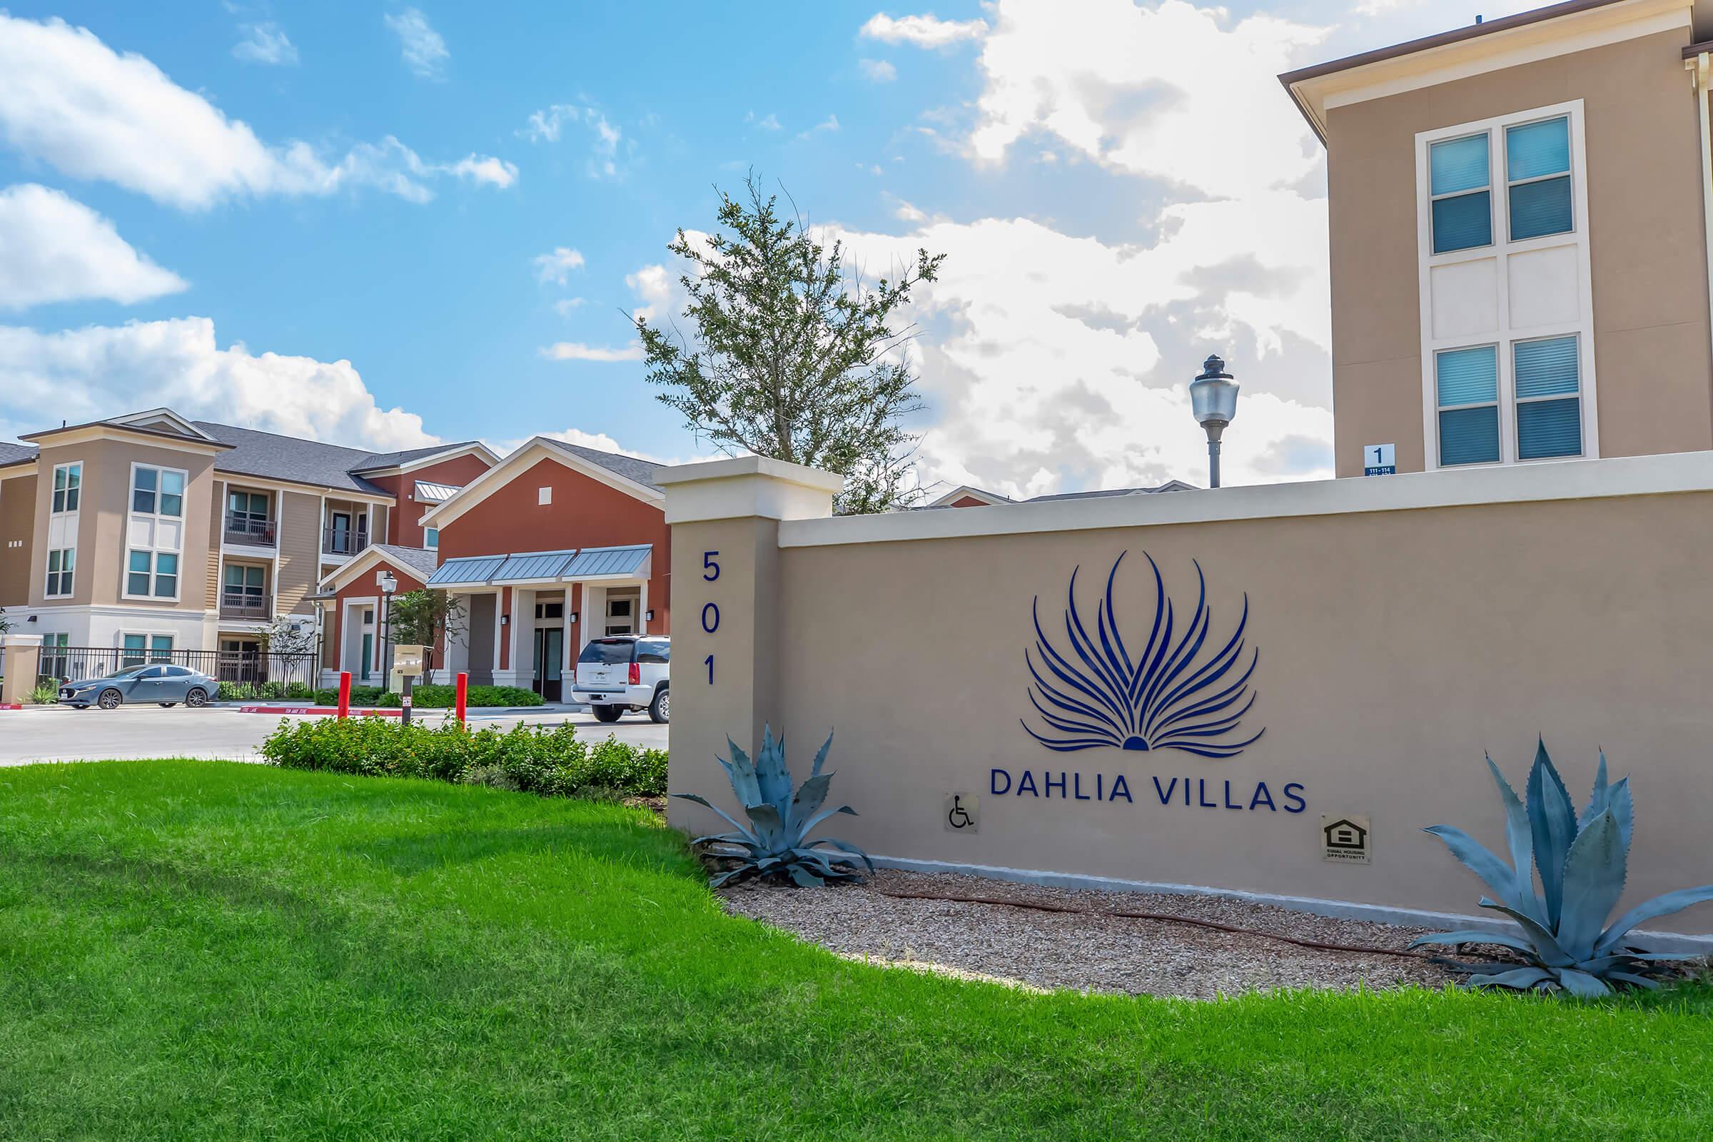
{"label": "long white cloud streak in the top left corner of sky", "polygon": [[111,181],[185,211],[238,195],[327,195],[379,187],[411,202],[437,176],[495,181],[516,168],[469,156],[427,163],[394,137],[322,159],[305,142],[271,147],[242,120],[185,91],[140,55],[118,55],[60,19],[0,12],[0,140],[72,178]]}

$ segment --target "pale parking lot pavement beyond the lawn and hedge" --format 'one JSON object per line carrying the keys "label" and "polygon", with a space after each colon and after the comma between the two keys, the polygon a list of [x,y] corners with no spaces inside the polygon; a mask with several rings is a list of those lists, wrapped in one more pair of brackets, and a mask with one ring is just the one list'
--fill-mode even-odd
{"label": "pale parking lot pavement beyond the lawn and hedge", "polygon": [[[295,716],[301,721],[308,716]],[[442,711],[421,711],[418,721],[439,724]],[[591,714],[565,711],[531,712],[469,712],[473,728],[497,726],[505,729],[517,723],[531,726],[557,726],[570,723],[591,741],[608,733],[632,745],[666,748],[668,726],[658,726],[648,716],[630,714],[603,726]],[[0,711],[0,765],[27,765],[31,762],[91,762],[104,758],[139,757],[206,757],[235,762],[260,760],[262,738],[271,735],[279,719],[271,714],[242,714],[236,707],[209,705],[200,711],[175,705],[123,705],[116,711],[74,711],[65,705],[24,707]]]}

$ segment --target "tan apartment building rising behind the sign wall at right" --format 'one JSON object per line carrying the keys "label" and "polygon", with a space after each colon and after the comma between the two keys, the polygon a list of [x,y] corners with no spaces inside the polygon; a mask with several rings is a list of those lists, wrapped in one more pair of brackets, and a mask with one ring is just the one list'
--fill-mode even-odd
{"label": "tan apartment building rising behind the sign wall at right", "polygon": [[1326,146],[1340,476],[1713,449],[1706,0],[1280,77]]}

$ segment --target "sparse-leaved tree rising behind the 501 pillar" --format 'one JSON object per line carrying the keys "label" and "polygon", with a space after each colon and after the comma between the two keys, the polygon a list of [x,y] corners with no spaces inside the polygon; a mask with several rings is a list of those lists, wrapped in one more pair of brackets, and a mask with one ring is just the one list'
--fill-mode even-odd
{"label": "sparse-leaved tree rising behind the 501 pillar", "polygon": [[916,437],[899,423],[923,407],[903,353],[916,330],[891,322],[946,255],[916,250],[913,269],[868,288],[843,241],[827,248],[800,216],[781,216],[755,175],[745,190],[738,200],[716,188],[730,233],[704,245],[680,229],[666,247],[690,264],[678,281],[694,344],[636,317],[648,380],[723,452],[845,476],[839,512],[908,507],[922,497],[908,479]]}

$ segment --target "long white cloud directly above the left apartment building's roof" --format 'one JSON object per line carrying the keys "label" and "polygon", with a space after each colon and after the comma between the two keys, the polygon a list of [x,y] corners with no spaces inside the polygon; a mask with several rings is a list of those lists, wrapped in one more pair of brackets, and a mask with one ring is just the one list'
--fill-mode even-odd
{"label": "long white cloud directly above the left apartment building's roof", "polygon": [[[439,443],[415,413],[382,409],[349,361],[252,354],[214,341],[214,322],[0,325],[0,419],[14,430],[170,406],[187,416],[375,450]],[[22,428],[27,431],[27,428]]]}

